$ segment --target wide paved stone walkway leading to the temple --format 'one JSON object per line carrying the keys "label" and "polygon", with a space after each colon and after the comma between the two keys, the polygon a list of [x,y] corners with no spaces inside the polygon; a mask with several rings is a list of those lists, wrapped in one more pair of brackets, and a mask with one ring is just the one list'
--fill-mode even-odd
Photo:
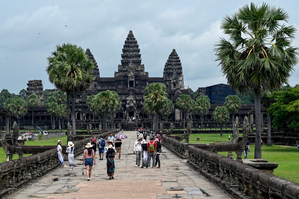
{"label": "wide paved stone walkway leading to the temple", "polygon": [[[69,167],[57,168],[42,178],[16,190],[5,198],[28,199],[73,199],[73,198],[234,198],[224,189],[199,174],[162,146],[161,168],[135,168],[136,155],[133,154],[136,133],[124,132],[128,139],[123,140],[121,159],[115,159],[115,179],[108,180],[106,160],[99,160],[92,168],[91,181],[82,175],[83,155],[75,159],[75,170]],[[76,146],[75,146],[76,147]],[[68,165],[68,162],[66,163]]]}

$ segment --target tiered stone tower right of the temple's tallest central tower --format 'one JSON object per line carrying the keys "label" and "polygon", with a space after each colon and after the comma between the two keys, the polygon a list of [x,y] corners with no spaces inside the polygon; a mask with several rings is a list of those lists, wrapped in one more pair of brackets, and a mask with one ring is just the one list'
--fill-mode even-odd
{"label": "tiered stone tower right of the temple's tallest central tower", "polygon": [[166,88],[168,89],[184,89],[184,76],[182,64],[176,49],[170,53],[163,71],[163,78]]}

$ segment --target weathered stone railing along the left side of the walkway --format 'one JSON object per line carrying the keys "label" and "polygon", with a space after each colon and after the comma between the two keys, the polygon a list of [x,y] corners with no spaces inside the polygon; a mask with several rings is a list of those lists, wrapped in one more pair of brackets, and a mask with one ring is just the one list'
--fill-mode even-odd
{"label": "weathered stone railing along the left side of the walkway", "polygon": [[[113,131],[102,133],[102,136],[107,138],[109,133]],[[88,142],[89,138],[74,142],[74,156],[81,155]],[[67,145],[62,145],[62,151],[65,151],[66,148]],[[63,153],[63,158],[65,161],[68,160],[66,153]],[[57,168],[59,164],[55,146],[51,150],[36,155],[0,163],[0,198],[12,190],[26,185],[36,177],[47,174],[52,169]]]}

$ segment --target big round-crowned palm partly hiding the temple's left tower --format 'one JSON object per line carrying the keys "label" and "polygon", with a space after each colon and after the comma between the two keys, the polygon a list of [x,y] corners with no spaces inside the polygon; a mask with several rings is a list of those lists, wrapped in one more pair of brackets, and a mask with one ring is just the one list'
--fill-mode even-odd
{"label": "big round-crowned palm partly hiding the temple's left tower", "polygon": [[88,59],[85,51],[76,44],[63,43],[56,45],[52,55],[47,58],[46,72],[49,81],[68,97],[67,118],[69,121],[69,102],[72,98],[72,127],[76,135],[75,126],[75,96],[89,88],[94,80],[94,74],[90,72],[94,68],[92,60]]}

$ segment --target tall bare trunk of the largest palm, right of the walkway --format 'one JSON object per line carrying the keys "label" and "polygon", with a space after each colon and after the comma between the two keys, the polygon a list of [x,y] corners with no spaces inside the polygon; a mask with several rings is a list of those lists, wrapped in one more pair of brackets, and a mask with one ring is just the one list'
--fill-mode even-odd
{"label": "tall bare trunk of the largest palm, right of the walkway", "polygon": [[261,89],[254,89],[255,95],[255,150],[254,159],[262,158],[261,146]]}

